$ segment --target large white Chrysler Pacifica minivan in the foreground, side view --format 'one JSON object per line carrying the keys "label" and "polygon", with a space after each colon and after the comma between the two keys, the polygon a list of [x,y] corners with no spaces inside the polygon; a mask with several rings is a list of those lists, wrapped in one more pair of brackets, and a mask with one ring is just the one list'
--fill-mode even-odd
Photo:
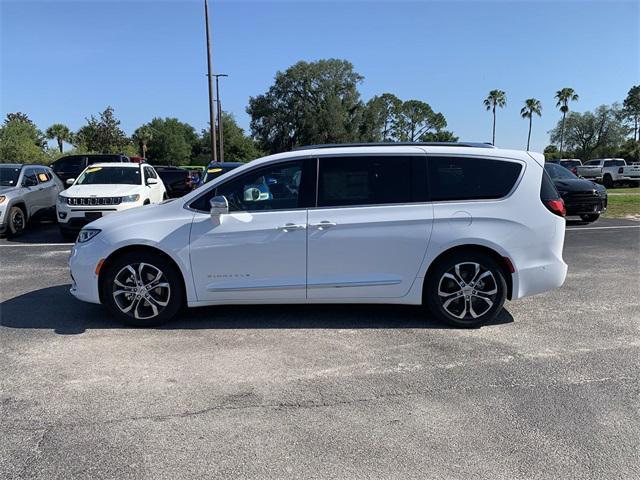
{"label": "large white Chrysler Pacifica minivan in the foreground, side view", "polygon": [[317,146],[87,225],[71,293],[148,326],[183,305],[426,303],[457,326],[564,282],[544,157],[484,144]]}

